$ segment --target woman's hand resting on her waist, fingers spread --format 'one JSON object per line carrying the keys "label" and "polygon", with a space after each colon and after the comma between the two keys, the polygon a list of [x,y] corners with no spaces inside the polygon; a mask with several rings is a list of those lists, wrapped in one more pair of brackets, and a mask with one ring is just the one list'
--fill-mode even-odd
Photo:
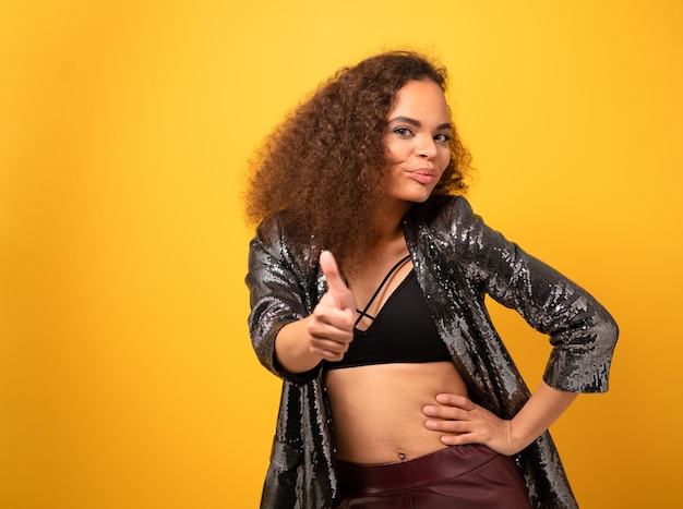
{"label": "woman's hand resting on her waist, fingers spread", "polygon": [[443,433],[441,441],[448,446],[482,444],[500,455],[512,456],[528,444],[518,444],[512,421],[506,421],[470,399],[457,395],[438,395],[438,404],[422,409],[428,429]]}

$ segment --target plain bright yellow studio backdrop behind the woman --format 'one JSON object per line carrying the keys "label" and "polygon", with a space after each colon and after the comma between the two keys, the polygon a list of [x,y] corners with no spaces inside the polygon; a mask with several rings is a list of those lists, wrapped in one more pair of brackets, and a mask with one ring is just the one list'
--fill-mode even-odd
{"label": "plain bright yellow studio backdrop behind the woman", "polygon": [[[2,1],[0,507],[256,507],[245,160],[394,47],[450,68],[475,209],[621,326],[552,429],[582,507],[680,505],[681,5]],[[492,313],[535,387],[546,339]]]}

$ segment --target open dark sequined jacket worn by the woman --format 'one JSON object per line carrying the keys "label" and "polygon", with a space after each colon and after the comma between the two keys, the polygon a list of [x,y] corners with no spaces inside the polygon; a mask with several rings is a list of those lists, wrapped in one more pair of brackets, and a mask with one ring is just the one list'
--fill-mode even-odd
{"label": "open dark sequined jacket worn by the woman", "polygon": [[[549,335],[548,385],[608,389],[618,328],[585,290],[487,227],[464,197],[433,195],[411,207],[403,228],[420,288],[472,400],[512,419],[530,396],[491,323],[486,294]],[[251,339],[261,363],[284,379],[262,508],[328,508],[336,494],[322,368],[292,376],[274,359],[278,331],[308,316],[325,292],[316,258],[310,247],[290,245],[277,218],[264,221],[250,244]],[[577,507],[548,433],[516,461],[534,507]]]}

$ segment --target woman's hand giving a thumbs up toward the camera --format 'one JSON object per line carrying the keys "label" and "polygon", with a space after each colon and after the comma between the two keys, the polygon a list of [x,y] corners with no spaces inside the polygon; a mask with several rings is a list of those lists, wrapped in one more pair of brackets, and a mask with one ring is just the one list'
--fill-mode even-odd
{"label": "woman's hand giving a thumbs up toward the camera", "polygon": [[354,339],[356,298],[342,279],[331,252],[321,253],[320,266],[327,280],[327,292],[308,322],[310,348],[324,360],[336,362],[344,357]]}

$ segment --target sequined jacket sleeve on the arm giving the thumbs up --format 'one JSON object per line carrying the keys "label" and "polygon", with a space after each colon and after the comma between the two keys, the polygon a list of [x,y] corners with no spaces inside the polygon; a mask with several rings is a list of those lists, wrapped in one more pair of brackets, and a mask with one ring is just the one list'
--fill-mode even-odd
{"label": "sequined jacket sleeve on the arm giving the thumbs up", "polygon": [[249,332],[256,356],[269,372],[295,384],[315,377],[319,367],[288,373],[275,356],[275,339],[287,324],[310,314],[300,270],[283,241],[275,220],[259,227],[249,244],[249,271],[245,283],[250,292]]}

